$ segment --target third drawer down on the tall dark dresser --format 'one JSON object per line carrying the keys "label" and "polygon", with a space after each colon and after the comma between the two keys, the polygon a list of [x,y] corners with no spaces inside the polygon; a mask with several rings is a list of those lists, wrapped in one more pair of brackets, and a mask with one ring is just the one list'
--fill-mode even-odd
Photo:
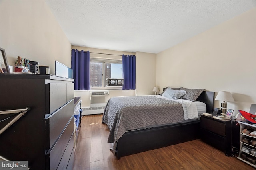
{"label": "third drawer down on the tall dark dresser", "polygon": [[[46,169],[56,170],[58,168],[58,165],[64,154],[64,151],[68,146],[70,138],[73,137],[73,131],[74,131],[74,117],[72,116],[72,119],[70,119],[68,125],[66,126],[63,133],[60,135],[60,137],[58,138],[58,140],[56,141],[52,149],[49,150],[45,155],[46,163],[48,162],[48,165],[50,165],[50,167],[46,167]],[[74,145],[74,143],[72,144]]]}

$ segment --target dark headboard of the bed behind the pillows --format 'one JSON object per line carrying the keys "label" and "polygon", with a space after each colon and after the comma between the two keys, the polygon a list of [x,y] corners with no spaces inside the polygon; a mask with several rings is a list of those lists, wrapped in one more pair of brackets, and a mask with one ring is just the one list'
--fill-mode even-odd
{"label": "dark headboard of the bed behind the pillows", "polygon": [[[165,88],[164,88],[165,89]],[[206,104],[206,113],[212,113],[214,107],[214,94],[215,92],[203,91],[196,99],[197,101]]]}

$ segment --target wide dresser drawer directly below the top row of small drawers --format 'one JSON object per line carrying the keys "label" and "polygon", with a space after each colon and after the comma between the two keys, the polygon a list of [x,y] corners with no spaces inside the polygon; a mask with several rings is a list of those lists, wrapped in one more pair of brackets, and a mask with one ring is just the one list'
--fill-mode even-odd
{"label": "wide dresser drawer directly below the top row of small drawers", "polygon": [[[74,114],[73,100],[62,106],[45,119],[46,125],[46,150],[50,149]],[[74,124],[74,122],[73,122]],[[47,135],[49,134],[49,135]]]}

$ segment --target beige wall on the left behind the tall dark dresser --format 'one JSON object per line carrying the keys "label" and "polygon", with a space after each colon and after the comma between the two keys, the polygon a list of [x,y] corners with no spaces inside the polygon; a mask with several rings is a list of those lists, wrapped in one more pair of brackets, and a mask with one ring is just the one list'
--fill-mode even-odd
{"label": "beige wall on the left behind the tall dark dresser", "polygon": [[71,44],[43,0],[1,0],[0,37],[9,65],[20,56],[50,66],[50,74],[55,60],[71,66]]}

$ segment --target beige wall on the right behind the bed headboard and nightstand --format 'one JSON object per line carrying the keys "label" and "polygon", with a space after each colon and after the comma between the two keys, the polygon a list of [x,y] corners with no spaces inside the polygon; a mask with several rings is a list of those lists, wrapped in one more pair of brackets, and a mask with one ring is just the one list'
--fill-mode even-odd
{"label": "beige wall on the right behind the bed headboard and nightstand", "polygon": [[256,104],[255,63],[256,8],[158,53],[156,84],[230,91],[236,114]]}

